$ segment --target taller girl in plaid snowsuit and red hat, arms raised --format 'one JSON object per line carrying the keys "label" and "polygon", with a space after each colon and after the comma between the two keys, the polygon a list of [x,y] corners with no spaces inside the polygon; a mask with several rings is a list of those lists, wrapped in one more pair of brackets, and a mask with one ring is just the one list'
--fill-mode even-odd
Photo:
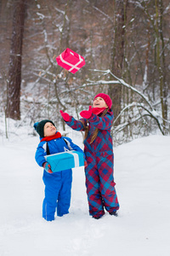
{"label": "taller girl in plaid snowsuit and red hat, arms raised", "polygon": [[93,108],[82,111],[82,119],[76,120],[68,113],[60,111],[65,123],[77,131],[85,131],[84,153],[86,187],[89,214],[101,218],[105,210],[117,216],[119,209],[113,177],[114,154],[112,148],[111,125],[113,112],[110,96],[99,93],[94,97]]}

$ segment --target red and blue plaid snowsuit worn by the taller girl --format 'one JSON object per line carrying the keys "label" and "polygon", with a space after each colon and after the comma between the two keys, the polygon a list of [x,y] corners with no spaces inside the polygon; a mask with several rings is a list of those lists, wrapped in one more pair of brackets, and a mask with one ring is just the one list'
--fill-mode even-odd
{"label": "red and blue plaid snowsuit worn by the taller girl", "polygon": [[[87,119],[81,119],[86,122]],[[88,194],[89,213],[93,217],[101,217],[105,214],[104,207],[108,212],[119,209],[116,189],[113,177],[114,154],[112,148],[111,124],[113,112],[111,109],[104,117],[92,113],[89,123],[88,137],[84,141],[84,153],[88,166],[85,168],[86,186]],[[71,117],[66,122],[72,129],[84,131],[80,120]],[[90,144],[91,136],[99,128],[98,136]]]}

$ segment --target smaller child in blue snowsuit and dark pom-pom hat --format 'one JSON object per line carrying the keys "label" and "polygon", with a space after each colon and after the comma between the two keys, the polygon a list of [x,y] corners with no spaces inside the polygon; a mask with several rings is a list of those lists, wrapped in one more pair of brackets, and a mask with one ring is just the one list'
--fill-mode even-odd
{"label": "smaller child in blue snowsuit and dark pom-pom hat", "polygon": [[48,221],[54,220],[57,208],[57,216],[69,213],[71,205],[72,170],[52,172],[51,166],[45,160],[45,155],[56,154],[68,150],[82,152],[71,138],[61,137],[59,131],[51,120],[44,119],[34,124],[34,128],[40,136],[35,155],[37,164],[43,167],[43,183],[45,184],[45,198],[42,204],[42,217]]}

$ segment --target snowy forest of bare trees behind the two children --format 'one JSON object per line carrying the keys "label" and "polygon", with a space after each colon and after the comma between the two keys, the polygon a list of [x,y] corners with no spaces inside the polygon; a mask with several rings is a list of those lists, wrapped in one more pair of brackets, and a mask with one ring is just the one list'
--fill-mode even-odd
{"label": "snowy forest of bare trees behind the two children", "polygon": [[[111,96],[114,144],[170,133],[168,0],[1,0],[0,127],[27,127],[59,110],[79,118],[95,94]],[[57,65],[65,48],[82,55],[76,74]]]}

